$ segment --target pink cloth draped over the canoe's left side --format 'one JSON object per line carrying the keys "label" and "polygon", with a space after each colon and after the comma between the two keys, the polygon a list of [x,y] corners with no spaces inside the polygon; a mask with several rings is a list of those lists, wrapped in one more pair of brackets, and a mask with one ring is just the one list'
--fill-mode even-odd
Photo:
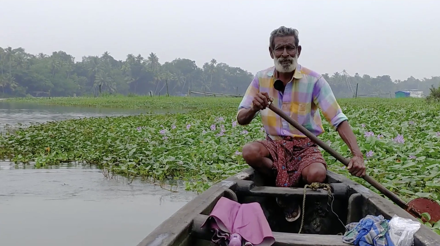
{"label": "pink cloth draped over the canoe's left side", "polygon": [[202,228],[209,225],[215,232],[213,242],[226,245],[229,235],[238,233],[246,246],[270,246],[275,242],[259,203],[240,204],[221,197]]}

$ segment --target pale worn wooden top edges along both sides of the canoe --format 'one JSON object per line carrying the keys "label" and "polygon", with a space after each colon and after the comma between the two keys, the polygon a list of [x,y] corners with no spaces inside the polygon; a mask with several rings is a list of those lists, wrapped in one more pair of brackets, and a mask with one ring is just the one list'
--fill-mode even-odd
{"label": "pale worn wooden top edges along both sides of the canoe", "polygon": [[[193,221],[198,214],[209,214],[218,199],[221,196],[226,196],[224,195],[225,190],[233,188],[237,180],[249,180],[253,175],[254,171],[250,167],[211,186],[163,221],[137,246],[182,245],[181,242],[190,240]],[[365,186],[329,170],[327,170],[327,176],[332,183],[345,183],[348,187],[348,197],[352,194],[360,194],[367,203],[373,205],[386,219],[391,219],[396,214],[399,217],[417,221],[410,213]],[[436,242],[440,242],[440,235],[437,235],[424,224],[414,234],[414,245],[416,246],[436,246],[438,245]]]}

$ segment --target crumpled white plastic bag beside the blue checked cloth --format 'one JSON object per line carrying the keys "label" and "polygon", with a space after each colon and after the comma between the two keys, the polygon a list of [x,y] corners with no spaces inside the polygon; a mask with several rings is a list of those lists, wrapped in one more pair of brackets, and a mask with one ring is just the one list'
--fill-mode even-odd
{"label": "crumpled white plastic bag beside the blue checked cloth", "polygon": [[394,246],[412,246],[414,244],[414,233],[420,228],[418,221],[405,219],[396,214],[388,223],[389,238]]}

